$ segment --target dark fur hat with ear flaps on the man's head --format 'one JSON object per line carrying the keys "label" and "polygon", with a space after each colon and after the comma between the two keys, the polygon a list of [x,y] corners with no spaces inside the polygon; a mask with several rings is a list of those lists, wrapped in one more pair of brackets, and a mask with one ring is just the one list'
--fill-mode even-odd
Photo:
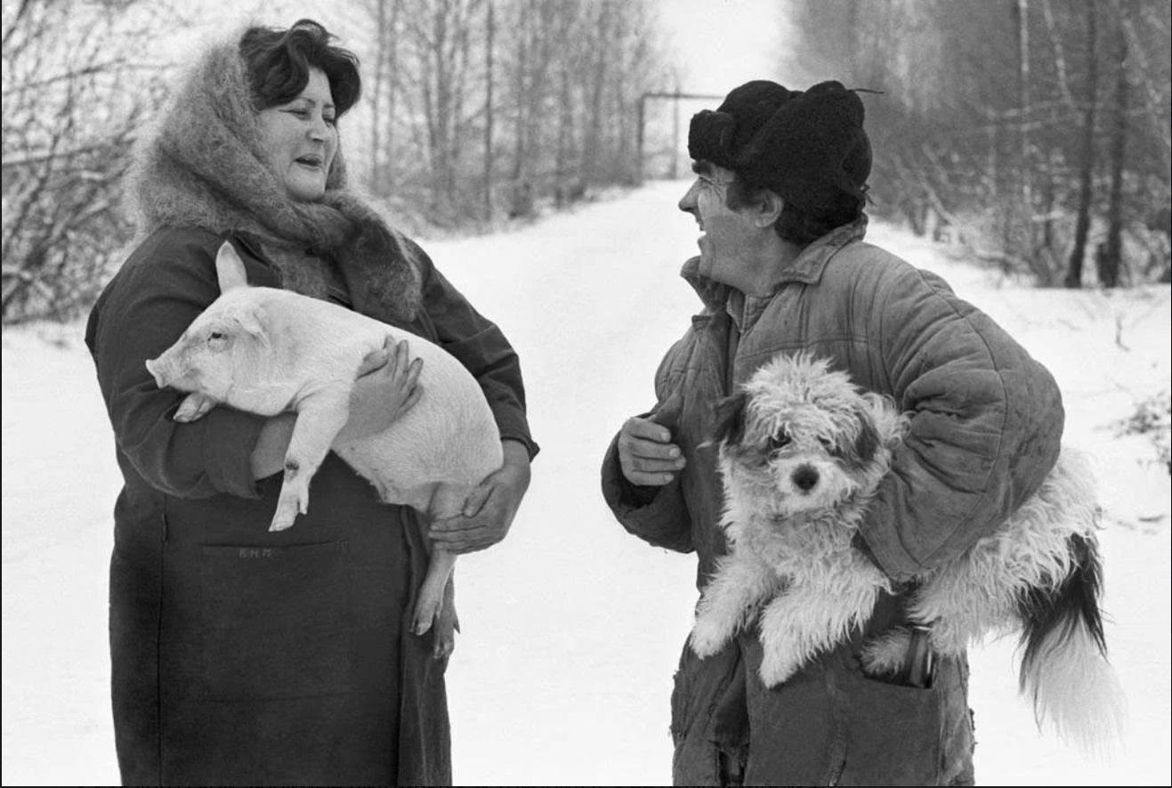
{"label": "dark fur hat with ear flaps on the man's head", "polygon": [[771,189],[811,213],[841,195],[860,205],[871,175],[863,101],[840,82],[788,90],[755,80],[691,118],[688,154],[732,170],[749,186]]}

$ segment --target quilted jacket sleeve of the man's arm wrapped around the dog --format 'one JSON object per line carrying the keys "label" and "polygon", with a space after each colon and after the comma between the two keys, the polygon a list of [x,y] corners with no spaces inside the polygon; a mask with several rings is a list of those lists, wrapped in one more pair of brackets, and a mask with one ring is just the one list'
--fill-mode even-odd
{"label": "quilted jacket sleeve of the man's arm wrapped around the dog", "polygon": [[911,430],[861,525],[895,579],[992,534],[1057,461],[1064,414],[1050,373],[935,274],[901,269],[877,293],[880,364]]}

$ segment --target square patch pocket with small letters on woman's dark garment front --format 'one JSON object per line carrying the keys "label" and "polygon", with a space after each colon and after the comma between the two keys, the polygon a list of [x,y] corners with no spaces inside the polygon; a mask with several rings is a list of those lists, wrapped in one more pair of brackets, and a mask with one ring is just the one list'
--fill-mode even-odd
{"label": "square patch pocket with small letters on woman's dark garment front", "polygon": [[345,542],[199,550],[206,699],[350,691]]}

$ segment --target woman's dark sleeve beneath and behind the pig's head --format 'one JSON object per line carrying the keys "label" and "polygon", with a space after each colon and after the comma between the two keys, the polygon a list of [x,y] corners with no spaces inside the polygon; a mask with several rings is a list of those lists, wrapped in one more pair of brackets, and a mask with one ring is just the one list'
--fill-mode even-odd
{"label": "woman's dark sleeve beneath and behind the pig's head", "polygon": [[169,495],[258,497],[251,455],[264,417],[219,406],[192,423],[176,422],[185,395],[159,389],[146,371],[146,359],[170,347],[219,296],[206,239],[158,238],[131,256],[87,326],[114,440],[138,475]]}

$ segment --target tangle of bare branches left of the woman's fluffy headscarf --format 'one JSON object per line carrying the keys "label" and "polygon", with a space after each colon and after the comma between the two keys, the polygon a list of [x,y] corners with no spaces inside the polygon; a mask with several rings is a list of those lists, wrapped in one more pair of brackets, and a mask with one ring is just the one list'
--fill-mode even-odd
{"label": "tangle of bare branches left of the woman's fluffy headscarf", "polygon": [[5,14],[5,324],[88,306],[131,235],[122,175],[159,95],[162,67],[139,60],[156,13],[26,0]]}

